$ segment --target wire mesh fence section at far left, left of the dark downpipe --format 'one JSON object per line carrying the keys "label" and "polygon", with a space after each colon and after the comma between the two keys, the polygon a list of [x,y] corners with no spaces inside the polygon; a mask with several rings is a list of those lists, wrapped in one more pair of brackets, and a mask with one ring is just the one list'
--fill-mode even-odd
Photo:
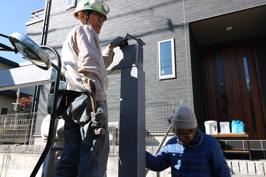
{"label": "wire mesh fence section at far left, left of the dark downpipe", "polygon": [[32,141],[38,115],[42,112],[0,115],[0,142],[26,144]]}

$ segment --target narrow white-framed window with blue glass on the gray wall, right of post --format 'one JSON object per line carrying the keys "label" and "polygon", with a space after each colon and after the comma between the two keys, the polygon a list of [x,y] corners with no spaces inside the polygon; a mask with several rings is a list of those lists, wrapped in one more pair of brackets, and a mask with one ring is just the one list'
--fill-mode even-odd
{"label": "narrow white-framed window with blue glass on the gray wall, right of post", "polygon": [[175,78],[174,38],[160,40],[158,50],[158,79]]}

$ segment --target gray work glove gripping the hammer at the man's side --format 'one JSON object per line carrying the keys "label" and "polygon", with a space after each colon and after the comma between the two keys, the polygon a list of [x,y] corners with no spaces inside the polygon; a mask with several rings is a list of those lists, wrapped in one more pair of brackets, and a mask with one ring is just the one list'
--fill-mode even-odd
{"label": "gray work glove gripping the hammer at the man's side", "polygon": [[103,103],[98,103],[97,113],[91,112],[92,128],[101,128],[106,121],[106,107]]}

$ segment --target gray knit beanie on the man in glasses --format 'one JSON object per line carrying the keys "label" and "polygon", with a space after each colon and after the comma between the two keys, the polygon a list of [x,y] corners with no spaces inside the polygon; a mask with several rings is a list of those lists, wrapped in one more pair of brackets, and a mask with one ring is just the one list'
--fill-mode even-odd
{"label": "gray knit beanie on the man in glasses", "polygon": [[198,126],[195,113],[187,106],[178,108],[171,120],[171,126],[178,129],[194,129]]}

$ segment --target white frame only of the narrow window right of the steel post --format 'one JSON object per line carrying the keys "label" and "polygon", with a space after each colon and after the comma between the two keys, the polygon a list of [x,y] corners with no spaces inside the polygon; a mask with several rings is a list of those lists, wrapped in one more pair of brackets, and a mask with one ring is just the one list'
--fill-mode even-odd
{"label": "white frame only of the narrow window right of the steel post", "polygon": [[[161,43],[171,41],[171,56],[172,56],[172,74],[162,76],[161,75]],[[162,39],[157,41],[157,55],[158,55],[158,79],[171,79],[176,77],[176,64],[175,64],[175,45],[174,45],[174,38]]]}

